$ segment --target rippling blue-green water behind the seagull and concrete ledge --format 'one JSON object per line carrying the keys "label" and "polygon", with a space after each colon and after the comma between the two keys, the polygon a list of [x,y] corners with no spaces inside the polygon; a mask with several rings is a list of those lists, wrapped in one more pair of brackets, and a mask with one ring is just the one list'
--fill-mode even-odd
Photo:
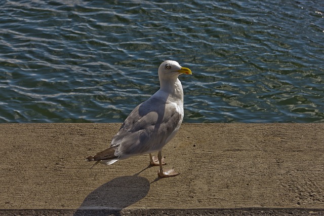
{"label": "rippling blue-green water behind the seagull and concrete ledge", "polygon": [[168,59],[184,122],[324,122],[324,3],[5,1],[0,122],[123,122]]}

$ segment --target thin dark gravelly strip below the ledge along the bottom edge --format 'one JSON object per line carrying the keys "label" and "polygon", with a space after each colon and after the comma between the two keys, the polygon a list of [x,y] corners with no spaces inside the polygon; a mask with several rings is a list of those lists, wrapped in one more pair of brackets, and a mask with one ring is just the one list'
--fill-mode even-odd
{"label": "thin dark gravelly strip below the ledge along the bottom edge", "polygon": [[223,209],[2,209],[0,215],[73,215],[73,216],[109,216],[109,215],[324,215],[323,209],[304,208],[223,208]]}

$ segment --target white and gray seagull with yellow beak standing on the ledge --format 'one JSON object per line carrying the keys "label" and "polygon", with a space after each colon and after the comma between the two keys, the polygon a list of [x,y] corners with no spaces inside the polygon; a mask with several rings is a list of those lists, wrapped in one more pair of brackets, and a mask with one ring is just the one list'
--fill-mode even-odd
{"label": "white and gray seagull with yellow beak standing on the ledge", "polygon": [[[142,102],[126,118],[113,136],[110,147],[89,156],[86,161],[110,165],[118,160],[149,154],[150,164],[159,166],[159,177],[176,176],[172,169],[163,169],[162,148],[175,137],[183,120],[183,89],[179,75],[192,75],[176,61],[164,61],[158,67],[160,88]],[[152,153],[158,152],[157,158]]]}

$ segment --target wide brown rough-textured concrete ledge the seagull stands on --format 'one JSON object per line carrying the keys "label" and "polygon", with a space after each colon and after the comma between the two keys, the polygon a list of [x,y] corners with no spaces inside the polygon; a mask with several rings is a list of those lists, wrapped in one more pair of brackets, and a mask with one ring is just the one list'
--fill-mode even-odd
{"label": "wide brown rough-textured concrete ledge the seagull stands on", "polygon": [[89,169],[120,125],[0,124],[0,213],[324,212],[324,124],[183,124],[162,179],[147,155]]}

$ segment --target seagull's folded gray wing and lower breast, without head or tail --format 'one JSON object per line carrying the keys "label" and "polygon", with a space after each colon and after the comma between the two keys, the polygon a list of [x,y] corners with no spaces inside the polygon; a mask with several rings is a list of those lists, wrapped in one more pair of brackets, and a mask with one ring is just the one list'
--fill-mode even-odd
{"label": "seagull's folded gray wing and lower breast, without head or tail", "polygon": [[118,146],[115,155],[124,159],[163,148],[182,122],[179,109],[175,103],[154,97],[138,105],[112,138],[111,146]]}

